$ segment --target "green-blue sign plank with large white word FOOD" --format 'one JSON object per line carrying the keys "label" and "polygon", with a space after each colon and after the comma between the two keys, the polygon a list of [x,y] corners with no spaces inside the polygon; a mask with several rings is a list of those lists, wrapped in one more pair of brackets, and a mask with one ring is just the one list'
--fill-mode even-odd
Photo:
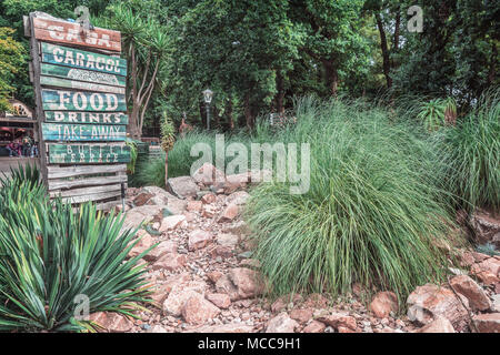
{"label": "green-blue sign plank with large white word FOOD", "polygon": [[42,90],[43,110],[127,111],[123,94],[68,90]]}

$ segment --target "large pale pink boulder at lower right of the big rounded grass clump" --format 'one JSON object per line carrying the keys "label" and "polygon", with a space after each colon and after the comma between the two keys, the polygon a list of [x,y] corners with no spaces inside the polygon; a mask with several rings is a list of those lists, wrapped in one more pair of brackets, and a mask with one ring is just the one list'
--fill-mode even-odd
{"label": "large pale pink boulder at lower right of the big rounded grass clump", "polygon": [[462,332],[468,325],[469,302],[462,296],[458,300],[454,293],[446,287],[426,284],[417,287],[407,300],[408,317],[427,325],[438,317],[447,318],[458,332]]}

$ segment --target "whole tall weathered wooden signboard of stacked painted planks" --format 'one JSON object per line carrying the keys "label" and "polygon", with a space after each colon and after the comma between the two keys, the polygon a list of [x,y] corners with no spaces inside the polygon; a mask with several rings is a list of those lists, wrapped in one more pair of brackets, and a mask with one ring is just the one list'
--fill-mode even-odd
{"label": "whole tall weathered wooden signboard of stacked painted planks", "polygon": [[40,168],[50,197],[109,210],[121,201],[127,61],[120,32],[33,12],[24,21],[33,69]]}

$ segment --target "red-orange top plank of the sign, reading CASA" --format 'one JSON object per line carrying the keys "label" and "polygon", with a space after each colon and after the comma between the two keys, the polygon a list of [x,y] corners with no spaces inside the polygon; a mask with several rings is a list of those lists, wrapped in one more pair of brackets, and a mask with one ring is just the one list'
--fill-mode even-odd
{"label": "red-orange top plank of the sign, reading CASA", "polygon": [[38,40],[121,51],[121,34],[118,31],[101,28],[86,30],[79,23],[44,18],[34,18],[33,24]]}

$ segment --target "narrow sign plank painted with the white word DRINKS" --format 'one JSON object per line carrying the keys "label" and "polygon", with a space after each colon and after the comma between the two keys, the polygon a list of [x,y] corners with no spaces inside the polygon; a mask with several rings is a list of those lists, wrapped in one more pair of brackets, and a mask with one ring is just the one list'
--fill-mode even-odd
{"label": "narrow sign plank painted with the white word DRINKS", "polygon": [[59,123],[128,124],[129,116],[122,112],[46,111],[46,121]]}

